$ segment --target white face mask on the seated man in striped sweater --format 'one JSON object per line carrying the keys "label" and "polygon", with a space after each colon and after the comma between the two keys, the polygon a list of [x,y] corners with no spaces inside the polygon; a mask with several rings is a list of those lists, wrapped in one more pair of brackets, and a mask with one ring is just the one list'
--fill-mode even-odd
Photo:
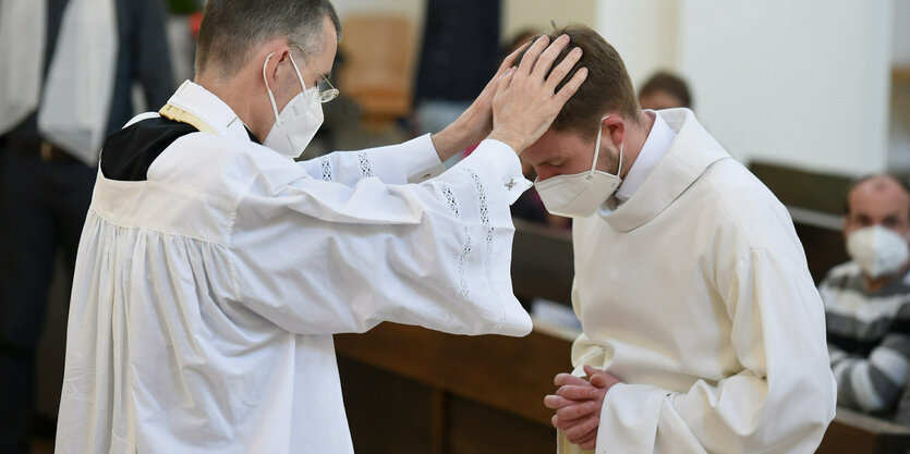
{"label": "white face mask on the seated man in striped sweater", "polygon": [[896,274],[910,258],[907,240],[881,225],[851,233],[847,237],[847,253],[872,279]]}

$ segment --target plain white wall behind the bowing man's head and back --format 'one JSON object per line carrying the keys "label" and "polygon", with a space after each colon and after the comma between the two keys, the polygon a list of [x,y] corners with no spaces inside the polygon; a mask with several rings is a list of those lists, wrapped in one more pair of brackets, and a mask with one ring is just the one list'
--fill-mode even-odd
{"label": "plain white wall behind the bowing man's head and back", "polygon": [[685,76],[737,159],[860,175],[888,163],[891,7],[599,0],[597,27],[633,82],[658,68]]}

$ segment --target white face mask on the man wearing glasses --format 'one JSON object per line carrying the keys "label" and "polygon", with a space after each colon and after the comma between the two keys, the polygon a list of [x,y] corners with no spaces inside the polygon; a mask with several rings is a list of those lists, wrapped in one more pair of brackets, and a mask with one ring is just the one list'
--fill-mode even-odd
{"label": "white face mask on the man wearing glasses", "polygon": [[271,53],[266,58],[266,64],[263,65],[263,78],[266,79],[268,99],[271,101],[271,110],[275,112],[275,124],[271,126],[271,131],[266,136],[263,145],[288,158],[294,159],[303,152],[303,149],[306,148],[310,140],[316,135],[316,131],[319,131],[319,126],[323,125],[323,102],[319,99],[317,85],[314,84],[313,87],[306,88],[306,85],[303,83],[303,76],[300,74],[300,70],[294,62],[294,58],[289,54],[291,65],[294,66],[294,71],[298,73],[300,86],[303,87],[303,91],[291,99],[291,102],[284,106],[281,113],[278,113],[275,95],[271,94],[271,88],[268,86],[268,78],[266,78],[266,66],[272,56],[275,54]]}

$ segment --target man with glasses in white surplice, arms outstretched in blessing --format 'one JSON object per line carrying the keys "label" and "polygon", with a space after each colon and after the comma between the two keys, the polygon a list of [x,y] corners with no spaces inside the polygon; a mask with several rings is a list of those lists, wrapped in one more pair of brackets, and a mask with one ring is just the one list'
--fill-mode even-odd
{"label": "man with glasses in white surplice, arms outstretched in blessing", "polygon": [[295,163],[340,36],[327,0],[208,0],[195,83],[108,138],[58,453],[351,453],[333,333],[530,332],[509,279],[517,151],[583,82],[555,90],[579,53],[551,68],[568,38],[537,40],[439,134]]}

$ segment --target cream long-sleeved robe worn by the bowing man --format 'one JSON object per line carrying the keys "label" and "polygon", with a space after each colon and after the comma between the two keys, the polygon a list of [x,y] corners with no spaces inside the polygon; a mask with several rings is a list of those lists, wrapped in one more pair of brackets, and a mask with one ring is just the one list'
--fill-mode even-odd
{"label": "cream long-sleeved robe worn by the bowing man", "polygon": [[595,451],[814,452],[836,384],[793,223],[691,111],[658,114],[676,133],[663,159],[615,211],[573,224],[575,373],[623,381]]}

